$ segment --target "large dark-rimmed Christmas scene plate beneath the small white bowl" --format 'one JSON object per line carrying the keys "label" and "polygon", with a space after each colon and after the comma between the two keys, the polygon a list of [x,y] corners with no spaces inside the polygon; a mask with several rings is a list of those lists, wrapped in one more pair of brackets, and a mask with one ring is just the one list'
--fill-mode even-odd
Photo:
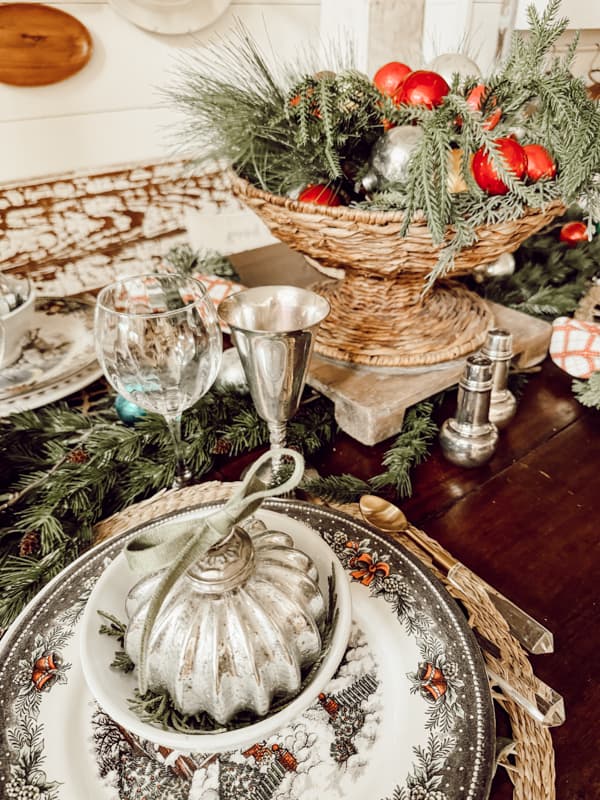
{"label": "large dark-rimmed Christmas scene plate beneath the small white bowl", "polygon": [[[203,506],[215,509],[219,504]],[[484,800],[494,717],[481,654],[441,584],[343,514],[271,500],[337,553],[353,627],[342,663],[303,715],[244,750],[188,753],[124,730],[79,661],[95,581],[133,532],[93,548],[40,592],[0,642],[0,795],[39,800]],[[279,512],[279,513],[277,513]]]}

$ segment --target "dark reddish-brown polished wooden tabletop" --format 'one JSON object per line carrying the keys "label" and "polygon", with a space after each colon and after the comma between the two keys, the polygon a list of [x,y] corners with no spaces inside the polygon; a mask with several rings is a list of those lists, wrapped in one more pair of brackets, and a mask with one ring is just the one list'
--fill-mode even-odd
{"label": "dark reddish-brown polished wooden tabletop", "polygon": [[[411,522],[555,634],[552,655],[532,656],[538,676],[565,698],[567,721],[554,729],[557,798],[600,797],[597,720],[600,587],[600,413],[581,406],[571,379],[550,361],[529,380],[517,416],[489,464],[466,470],[436,445],[414,474],[403,504]],[[455,398],[440,410],[450,416]],[[381,471],[390,441],[373,447],[339,434],[315,466],[321,474]],[[241,458],[211,477],[232,480]],[[508,800],[504,771],[491,799]]]}

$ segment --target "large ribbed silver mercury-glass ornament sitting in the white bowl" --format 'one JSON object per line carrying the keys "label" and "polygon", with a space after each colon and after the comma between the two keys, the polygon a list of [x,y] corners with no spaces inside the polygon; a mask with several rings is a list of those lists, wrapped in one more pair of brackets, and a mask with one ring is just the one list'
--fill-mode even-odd
{"label": "large ribbed silver mercury-glass ornament sitting in the white bowl", "polygon": [[[326,603],[312,560],[288,534],[258,520],[236,527],[177,582],[149,642],[148,686],[167,690],[185,714],[225,724],[240,711],[262,716],[275,697],[301,688],[321,653]],[[125,650],[139,661],[150,598],[162,572],[127,598]]]}

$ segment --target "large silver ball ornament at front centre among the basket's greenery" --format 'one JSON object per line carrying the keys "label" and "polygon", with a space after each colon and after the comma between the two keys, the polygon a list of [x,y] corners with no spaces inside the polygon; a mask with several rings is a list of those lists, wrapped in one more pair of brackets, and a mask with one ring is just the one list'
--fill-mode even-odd
{"label": "large silver ball ornament at front centre among the basket's greenery", "polygon": [[414,125],[399,125],[383,134],[373,145],[369,171],[362,184],[367,192],[382,189],[387,183],[403,183],[408,178],[408,162],[423,139]]}

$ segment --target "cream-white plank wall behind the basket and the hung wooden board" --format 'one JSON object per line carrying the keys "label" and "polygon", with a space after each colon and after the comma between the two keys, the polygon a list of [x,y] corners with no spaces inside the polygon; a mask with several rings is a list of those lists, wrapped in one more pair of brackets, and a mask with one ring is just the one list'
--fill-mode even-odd
{"label": "cream-white plank wall behind the basket and the hung wooden board", "polygon": [[[396,14],[406,2],[323,0],[323,6],[333,23],[339,19],[343,31],[354,6]],[[536,2],[544,5],[546,0]],[[500,0],[414,3],[424,5],[424,61],[457,50],[466,40],[467,52],[486,70],[495,47]],[[0,84],[0,183],[172,155],[177,119],[165,107],[160,88],[171,82],[180,51],[227,34],[239,18],[277,57],[293,59],[304,43],[318,40],[321,12],[319,0],[235,0],[214,25],[194,36],[161,36],[137,28],[101,0],[50,4],[87,26],[93,55],[80,73],[58,84]],[[563,0],[565,4],[573,27],[600,28],[600,0]],[[598,42],[599,30],[583,31],[577,61],[581,74],[589,69]]]}

